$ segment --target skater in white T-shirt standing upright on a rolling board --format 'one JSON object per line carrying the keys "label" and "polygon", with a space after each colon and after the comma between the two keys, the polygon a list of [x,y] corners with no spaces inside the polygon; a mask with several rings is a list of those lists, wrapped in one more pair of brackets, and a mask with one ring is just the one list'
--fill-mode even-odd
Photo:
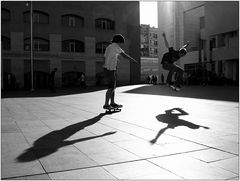
{"label": "skater in white T-shirt standing upright on a rolling board", "polygon": [[120,45],[124,44],[124,42],[124,37],[121,34],[114,35],[111,44],[106,48],[104,54],[105,64],[103,68],[105,77],[108,81],[108,90],[106,92],[105,104],[103,106],[104,109],[122,107],[122,105],[116,104],[114,100],[117,82],[117,64],[119,62],[118,56],[121,55],[123,58],[137,63],[134,58],[130,57],[121,49]]}

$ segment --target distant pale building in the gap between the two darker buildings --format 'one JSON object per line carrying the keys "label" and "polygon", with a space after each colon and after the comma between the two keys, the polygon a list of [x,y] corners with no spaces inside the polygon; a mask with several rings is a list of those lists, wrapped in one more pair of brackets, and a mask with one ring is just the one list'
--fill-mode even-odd
{"label": "distant pale building in the gap between the two darker buildings", "polygon": [[141,24],[141,80],[158,72],[158,29]]}

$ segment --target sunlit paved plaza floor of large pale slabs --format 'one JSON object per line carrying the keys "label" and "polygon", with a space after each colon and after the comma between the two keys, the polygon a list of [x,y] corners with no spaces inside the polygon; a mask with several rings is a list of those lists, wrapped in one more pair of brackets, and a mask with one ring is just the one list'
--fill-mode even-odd
{"label": "sunlit paved plaza floor of large pale slabs", "polygon": [[239,179],[237,86],[123,86],[115,113],[105,92],[2,94],[1,178]]}

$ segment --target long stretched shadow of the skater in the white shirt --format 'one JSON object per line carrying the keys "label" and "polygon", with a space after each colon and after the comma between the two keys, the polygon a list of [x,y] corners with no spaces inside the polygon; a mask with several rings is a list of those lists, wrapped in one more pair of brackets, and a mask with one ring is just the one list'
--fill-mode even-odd
{"label": "long stretched shadow of the skater in the white shirt", "polygon": [[115,134],[116,132],[107,132],[101,135],[96,135],[96,136],[90,136],[86,138],[80,138],[80,139],[75,139],[75,140],[66,140],[78,131],[84,129],[87,126],[91,126],[98,121],[101,120],[103,116],[106,114],[111,114],[111,113],[101,113],[98,116],[88,119],[83,122],[79,122],[76,124],[72,124],[70,126],[67,126],[63,129],[52,131],[39,139],[37,139],[33,146],[27,150],[25,150],[24,153],[19,155],[16,160],[18,162],[29,162],[33,161],[42,157],[45,157],[47,155],[50,155],[56,151],[58,151],[59,148],[72,145],[77,142],[81,141],[86,141],[94,138],[99,138],[103,136],[108,136],[111,134]]}

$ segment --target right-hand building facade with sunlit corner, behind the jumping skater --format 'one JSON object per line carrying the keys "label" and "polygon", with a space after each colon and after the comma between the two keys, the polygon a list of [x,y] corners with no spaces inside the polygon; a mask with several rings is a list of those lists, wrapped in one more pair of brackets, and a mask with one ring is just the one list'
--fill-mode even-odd
{"label": "right-hand building facade with sunlit corner, behind the jumping skater", "polygon": [[[180,59],[187,76],[198,83],[210,77],[239,81],[239,2],[158,2],[159,57],[170,46],[180,48],[190,41],[187,56]],[[159,64],[159,74],[167,72]],[[215,79],[216,80],[216,79]]]}

